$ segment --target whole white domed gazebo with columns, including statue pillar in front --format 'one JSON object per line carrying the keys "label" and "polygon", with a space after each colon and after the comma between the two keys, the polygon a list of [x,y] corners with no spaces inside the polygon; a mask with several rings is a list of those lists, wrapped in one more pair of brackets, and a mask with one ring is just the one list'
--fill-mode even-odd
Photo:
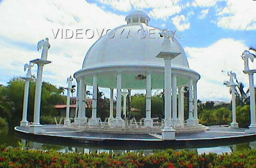
{"label": "whole white domed gazebo with columns, including statue pillar in front", "polygon": [[[163,33],[166,30],[149,26],[150,17],[145,12],[133,11],[125,20],[126,25],[115,28],[90,47],[82,69],[74,74],[78,85],[76,119],[84,118],[86,114],[83,105],[86,86],[93,86],[92,120],[88,124],[98,123],[97,87],[103,87],[110,88],[110,108],[113,108],[112,91],[117,90],[116,116],[110,114],[110,118],[113,117],[119,127],[123,126],[122,89],[145,89],[144,122],[152,126],[151,90],[164,89],[166,122],[162,129],[162,138],[174,139],[175,128],[171,124],[175,125],[177,120],[182,121],[185,126],[198,125],[197,81],[200,75],[189,68],[186,53],[178,40],[167,38],[168,33]],[[189,118],[186,121],[184,86],[189,88]],[[110,109],[110,113],[112,111]]]}

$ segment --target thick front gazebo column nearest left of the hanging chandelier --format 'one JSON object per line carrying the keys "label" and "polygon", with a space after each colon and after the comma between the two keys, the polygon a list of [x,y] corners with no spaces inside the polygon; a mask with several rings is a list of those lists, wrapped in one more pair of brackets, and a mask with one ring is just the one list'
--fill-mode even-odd
{"label": "thick front gazebo column nearest left of the hanging chandelier", "polygon": [[[117,72],[116,74],[117,84],[116,84],[116,92],[117,92],[117,102],[116,102],[116,122],[117,126],[122,126],[122,118],[121,118],[121,108],[122,108],[122,75],[121,72]],[[116,123],[115,123],[116,124]]]}

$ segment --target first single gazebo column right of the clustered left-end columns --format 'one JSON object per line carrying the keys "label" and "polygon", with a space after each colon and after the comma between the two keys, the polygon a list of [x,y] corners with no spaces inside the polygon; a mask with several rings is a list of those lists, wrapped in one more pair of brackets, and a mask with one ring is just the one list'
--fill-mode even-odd
{"label": "first single gazebo column right of the clustered left-end columns", "polygon": [[[93,93],[92,93],[92,120],[89,121],[89,125],[95,125],[98,122],[97,119],[97,92],[98,92],[98,83],[97,83],[97,75],[93,75]],[[98,123],[97,123],[98,124]]]}

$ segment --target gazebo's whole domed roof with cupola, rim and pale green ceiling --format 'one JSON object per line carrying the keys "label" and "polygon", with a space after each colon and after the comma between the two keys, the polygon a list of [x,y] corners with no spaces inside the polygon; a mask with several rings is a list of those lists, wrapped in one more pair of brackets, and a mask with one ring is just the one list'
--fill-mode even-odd
{"label": "gazebo's whole domed roof with cupola, rim and pale green ceiling", "polygon": [[[90,47],[82,69],[74,77],[92,85],[96,75],[99,87],[116,88],[116,74],[122,72],[122,88],[145,89],[144,76],[150,72],[152,89],[164,88],[164,59],[156,56],[164,50],[163,32],[166,30],[148,25],[150,18],[141,10],[130,12],[125,20],[126,25],[109,31]],[[171,64],[177,86],[187,86],[189,78],[197,81],[200,75],[189,68],[186,53],[178,40],[174,37],[170,41],[171,52],[180,53]]]}

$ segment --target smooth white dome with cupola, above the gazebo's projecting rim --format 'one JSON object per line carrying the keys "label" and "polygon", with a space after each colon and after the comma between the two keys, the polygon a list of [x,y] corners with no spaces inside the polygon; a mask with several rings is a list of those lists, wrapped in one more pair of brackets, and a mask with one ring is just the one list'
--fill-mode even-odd
{"label": "smooth white dome with cupola, above the gazebo's projecting rim", "polygon": [[[83,69],[101,66],[164,66],[156,58],[161,52],[164,38],[159,28],[148,26],[150,18],[143,11],[133,11],[126,17],[127,25],[119,26],[97,40],[86,53]],[[172,66],[189,68],[186,54],[176,38],[172,52],[181,54],[172,60]]]}

